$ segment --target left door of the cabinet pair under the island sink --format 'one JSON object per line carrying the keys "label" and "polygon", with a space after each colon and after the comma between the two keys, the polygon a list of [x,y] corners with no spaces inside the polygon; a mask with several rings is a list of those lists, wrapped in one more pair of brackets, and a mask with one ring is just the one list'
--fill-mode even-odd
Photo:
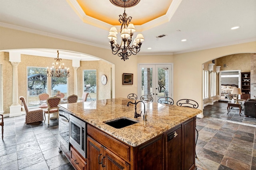
{"label": "left door of the cabinet pair under the island sink", "polygon": [[103,146],[87,136],[88,169],[101,170],[103,158]]}

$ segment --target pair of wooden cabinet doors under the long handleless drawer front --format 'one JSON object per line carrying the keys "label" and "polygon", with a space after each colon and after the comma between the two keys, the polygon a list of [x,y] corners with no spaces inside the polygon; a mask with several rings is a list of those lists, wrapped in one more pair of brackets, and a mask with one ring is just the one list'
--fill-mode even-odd
{"label": "pair of wooden cabinet doors under the long handleless drawer front", "polygon": [[130,165],[103,145],[87,137],[90,170],[130,170]]}

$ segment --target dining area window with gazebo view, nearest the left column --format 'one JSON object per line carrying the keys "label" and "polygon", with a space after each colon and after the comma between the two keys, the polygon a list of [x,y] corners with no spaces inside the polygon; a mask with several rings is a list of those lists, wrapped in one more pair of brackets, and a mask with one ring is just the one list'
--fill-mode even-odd
{"label": "dining area window with gazebo view, nearest the left column", "polygon": [[28,75],[28,106],[38,100],[38,95],[47,92],[46,68],[27,67]]}

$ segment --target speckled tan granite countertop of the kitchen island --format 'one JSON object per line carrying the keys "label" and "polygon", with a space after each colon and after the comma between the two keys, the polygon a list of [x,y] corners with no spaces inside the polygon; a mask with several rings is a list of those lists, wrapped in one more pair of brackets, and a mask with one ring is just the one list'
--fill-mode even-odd
{"label": "speckled tan granite countertop of the kitchen island", "polygon": [[[60,104],[59,106],[64,111],[86,121],[132,147],[136,147],[202,112],[200,109],[188,107],[146,103],[148,117],[147,121],[143,121],[143,116],[134,118],[134,105],[130,104],[127,106],[129,101],[134,102],[134,100],[127,98],[114,98]],[[143,110],[144,105],[139,103],[137,105],[137,113],[142,111],[143,115]],[[121,129],[116,129],[103,123],[119,118],[127,118],[138,123]]]}

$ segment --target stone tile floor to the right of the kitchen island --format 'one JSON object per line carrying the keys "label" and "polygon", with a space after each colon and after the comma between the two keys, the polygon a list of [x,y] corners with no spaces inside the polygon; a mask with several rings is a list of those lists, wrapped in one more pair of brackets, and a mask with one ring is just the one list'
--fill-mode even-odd
{"label": "stone tile floor to the right of the kitchen island", "polygon": [[256,170],[256,120],[237,108],[227,112],[226,103],[215,102],[197,119],[198,170]]}

